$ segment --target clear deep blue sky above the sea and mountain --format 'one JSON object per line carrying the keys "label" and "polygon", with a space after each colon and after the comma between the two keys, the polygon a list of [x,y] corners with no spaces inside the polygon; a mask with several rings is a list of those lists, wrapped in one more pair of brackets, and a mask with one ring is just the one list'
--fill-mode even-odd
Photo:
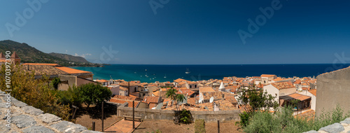
{"label": "clear deep blue sky above the sea and mountain", "polygon": [[102,46],[112,45],[118,53],[111,64],[305,64],[332,63],[341,52],[350,57],[350,1],[281,0],[245,44],[237,31],[248,31],[248,19],[255,21],[272,0],[153,1],[163,6],[157,14],[148,0],[50,0],[32,17],[28,9],[29,19],[13,36],[6,23],[16,26],[16,12],[30,6],[1,1],[0,40],[92,62]]}

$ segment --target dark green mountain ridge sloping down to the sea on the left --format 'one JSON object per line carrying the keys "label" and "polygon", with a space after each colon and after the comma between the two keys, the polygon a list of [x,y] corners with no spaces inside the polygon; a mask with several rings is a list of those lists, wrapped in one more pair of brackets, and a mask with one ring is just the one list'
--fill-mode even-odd
{"label": "dark green mountain ridge sloping down to the sea on the left", "polygon": [[[83,57],[74,57],[73,55],[45,53],[31,47],[27,43],[18,43],[16,41],[0,41],[0,52],[5,54],[6,51],[17,52],[21,58],[21,63],[57,63],[62,66],[100,66],[87,62]],[[54,56],[55,55],[55,56]]]}

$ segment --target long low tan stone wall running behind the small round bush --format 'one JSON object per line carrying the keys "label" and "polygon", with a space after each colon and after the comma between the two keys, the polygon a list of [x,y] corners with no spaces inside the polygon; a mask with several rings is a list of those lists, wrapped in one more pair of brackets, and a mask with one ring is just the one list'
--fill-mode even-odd
{"label": "long low tan stone wall running behind the small round bush", "polygon": [[[122,104],[117,109],[118,116],[132,116],[132,108],[127,107],[127,103]],[[221,122],[230,120],[239,120],[239,110],[235,111],[190,111],[193,118],[203,119],[206,123]],[[153,120],[173,120],[174,111],[157,110],[157,109],[138,109],[135,108],[135,116],[141,117],[142,119],[153,119]]]}

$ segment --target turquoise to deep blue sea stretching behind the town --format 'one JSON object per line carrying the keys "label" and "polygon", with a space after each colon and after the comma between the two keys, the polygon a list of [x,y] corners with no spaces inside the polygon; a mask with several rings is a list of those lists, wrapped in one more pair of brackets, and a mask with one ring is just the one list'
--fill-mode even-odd
{"label": "turquoise to deep blue sea stretching behind the town", "polygon": [[[177,78],[186,80],[222,79],[225,76],[260,76],[275,74],[281,77],[318,76],[321,73],[342,69],[350,64],[223,64],[223,65],[145,65],[111,64],[105,67],[73,67],[91,71],[94,79],[141,80],[141,82],[165,82]],[[190,73],[186,73],[186,71]]]}

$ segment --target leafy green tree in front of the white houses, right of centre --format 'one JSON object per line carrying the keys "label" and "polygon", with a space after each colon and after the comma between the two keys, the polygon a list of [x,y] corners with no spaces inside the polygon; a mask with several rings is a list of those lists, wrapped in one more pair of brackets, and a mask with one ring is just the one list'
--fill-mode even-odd
{"label": "leafy green tree in front of the white houses, right of centre", "polygon": [[238,95],[238,103],[244,108],[244,112],[239,114],[241,120],[236,123],[241,127],[246,127],[249,123],[249,119],[254,115],[256,111],[269,111],[274,109],[276,111],[279,104],[274,101],[271,94],[263,92],[263,90],[255,90],[255,85],[243,89]]}

